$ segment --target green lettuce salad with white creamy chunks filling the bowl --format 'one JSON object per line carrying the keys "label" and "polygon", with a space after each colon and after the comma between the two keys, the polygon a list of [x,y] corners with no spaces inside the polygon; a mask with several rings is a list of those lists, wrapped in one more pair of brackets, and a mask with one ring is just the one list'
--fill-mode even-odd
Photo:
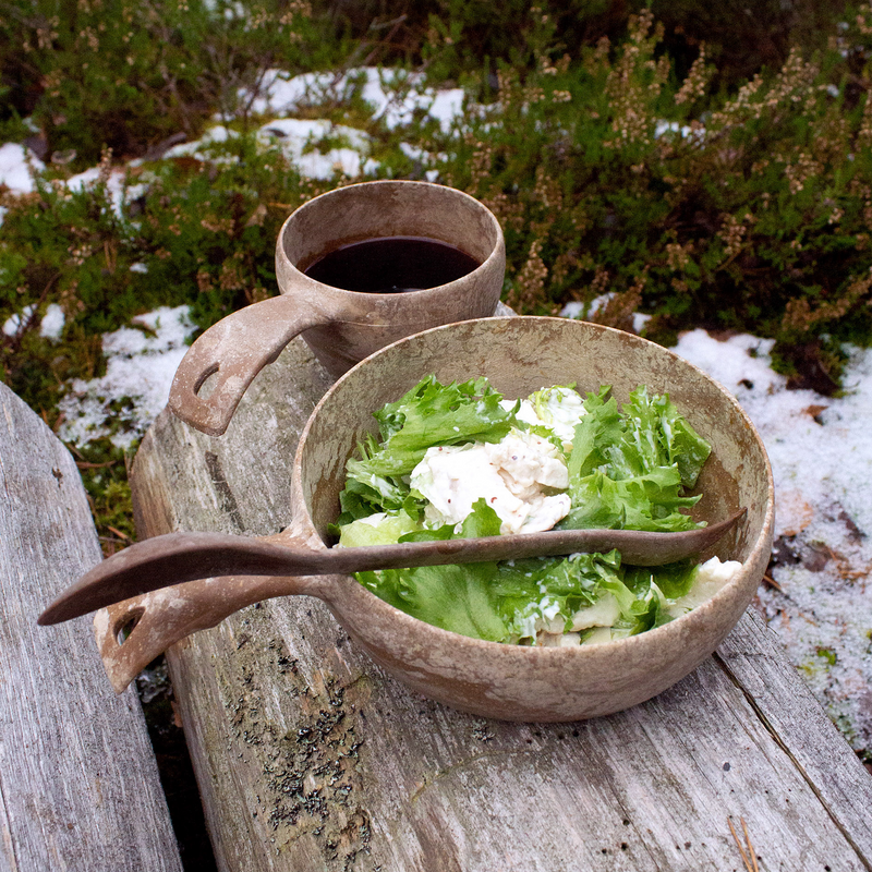
{"label": "green lettuce salad with white creamy chunks filling the bowl", "polygon": [[[486,378],[422,379],[375,413],[347,463],[340,546],[550,529],[679,532],[711,452],[668,395],[619,408],[607,386],[553,386],[507,400]],[[635,635],[705,602],[741,568],[634,567],[617,550],[359,572],[378,597],[467,637],[580,645]]]}

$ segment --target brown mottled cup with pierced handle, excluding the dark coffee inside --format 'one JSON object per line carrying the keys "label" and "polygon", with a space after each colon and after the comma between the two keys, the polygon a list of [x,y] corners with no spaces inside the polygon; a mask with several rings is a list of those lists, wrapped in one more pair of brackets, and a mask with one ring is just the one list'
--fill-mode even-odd
{"label": "brown mottled cup with pierced handle, excluding the dark coffee inside", "polygon": [[[342,290],[303,271],[344,245],[390,237],[445,242],[479,266],[455,281],[409,293]],[[461,191],[428,182],[378,181],[322,194],[296,209],[279,232],[280,295],[241,308],[206,330],[179,365],[169,405],[193,427],[219,436],[257,373],[299,334],[338,378],[405,336],[493,315],[505,268],[499,222]]]}

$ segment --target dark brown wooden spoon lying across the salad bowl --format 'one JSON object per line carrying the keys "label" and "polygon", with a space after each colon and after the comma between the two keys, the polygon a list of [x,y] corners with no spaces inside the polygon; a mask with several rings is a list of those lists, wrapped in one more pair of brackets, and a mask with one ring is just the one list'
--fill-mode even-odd
{"label": "dark brown wooden spoon lying across the salad bowl", "polygon": [[[623,561],[661,566],[714,545],[746,514],[680,533],[638,530],[549,530],[485,538],[326,548],[286,531],[272,541],[220,533],[169,533],[98,564],[38,618],[60,623],[88,611],[184,581],[222,576],[326,576],[373,569],[476,564],[618,548]],[[280,544],[279,544],[280,543]]]}

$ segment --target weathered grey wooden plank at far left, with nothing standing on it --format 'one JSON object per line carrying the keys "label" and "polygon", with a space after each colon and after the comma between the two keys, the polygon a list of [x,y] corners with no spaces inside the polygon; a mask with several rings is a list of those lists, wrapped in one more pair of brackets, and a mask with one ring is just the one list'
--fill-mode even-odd
{"label": "weathered grey wooden plank at far left, with nothing standing on it", "polygon": [[140,702],[90,621],[36,617],[100,559],[75,463],[0,384],[0,870],[181,869]]}

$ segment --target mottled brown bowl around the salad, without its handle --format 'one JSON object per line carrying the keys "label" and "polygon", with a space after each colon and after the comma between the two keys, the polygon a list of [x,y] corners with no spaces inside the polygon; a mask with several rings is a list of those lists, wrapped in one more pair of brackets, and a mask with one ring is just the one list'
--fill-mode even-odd
{"label": "mottled brown bowl around the salad, without its handle", "polygon": [[715,521],[748,509],[742,524],[714,550],[743,567],[712,600],[664,627],[559,649],[469,639],[397,610],[349,577],[323,578],[312,592],[377,664],[410,688],[467,712],[574,720],[654,697],[717,647],[753,597],[770,559],[773,482],[765,449],[720,385],[673,352],[620,330],[562,318],[485,318],[427,330],[367,358],[325,395],[303,432],[292,484],[302,532],[326,541],[339,511],[346,460],[361,435],[376,429],[372,412],[428,374],[440,382],[484,375],[510,399],[569,383],[582,393],[610,385],[618,402],[640,384],[668,392],[713,447],[694,517]]}

